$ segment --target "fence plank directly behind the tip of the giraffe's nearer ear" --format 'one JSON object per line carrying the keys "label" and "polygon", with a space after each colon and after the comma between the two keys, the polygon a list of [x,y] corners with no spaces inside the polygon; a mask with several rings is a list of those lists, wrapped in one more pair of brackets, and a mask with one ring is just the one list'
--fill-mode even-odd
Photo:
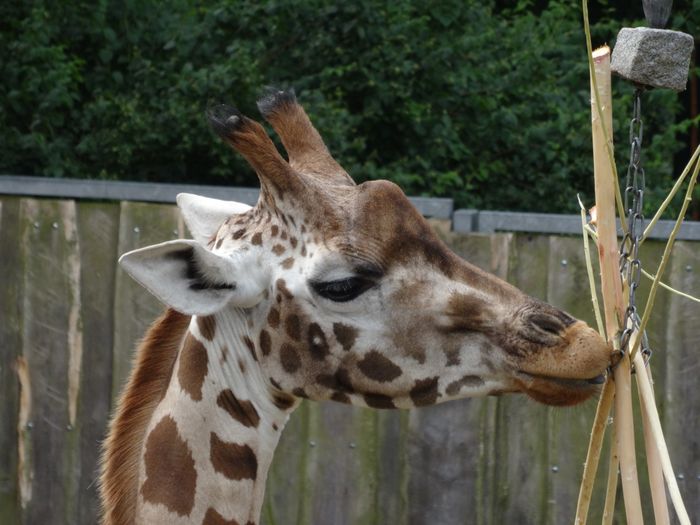
{"label": "fence plank directly behind the tip of the giraffe's nearer ear", "polygon": [[[182,235],[175,206],[122,202],[118,255]],[[116,262],[114,263],[116,264]],[[114,298],[112,397],[117,399],[131,370],[134,347],[164,306],[123,270],[117,269]]]}

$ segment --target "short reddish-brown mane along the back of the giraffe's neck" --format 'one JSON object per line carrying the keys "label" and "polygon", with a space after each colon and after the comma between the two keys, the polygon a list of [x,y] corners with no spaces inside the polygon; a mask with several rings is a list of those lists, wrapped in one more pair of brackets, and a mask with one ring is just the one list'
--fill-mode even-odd
{"label": "short reddish-brown mane along the back of the giraffe's neck", "polygon": [[146,427],[163,398],[190,317],[168,309],[144,336],[133,373],[117,403],[101,459],[103,523],[130,524],[136,517],[139,455]]}

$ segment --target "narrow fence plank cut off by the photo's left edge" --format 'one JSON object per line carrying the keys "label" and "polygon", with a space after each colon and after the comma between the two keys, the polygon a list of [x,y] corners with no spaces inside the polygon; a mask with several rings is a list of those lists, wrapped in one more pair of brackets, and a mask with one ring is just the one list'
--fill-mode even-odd
{"label": "narrow fence plank cut off by the photo's left edge", "polygon": [[17,357],[22,348],[19,199],[0,201],[0,522],[18,523]]}

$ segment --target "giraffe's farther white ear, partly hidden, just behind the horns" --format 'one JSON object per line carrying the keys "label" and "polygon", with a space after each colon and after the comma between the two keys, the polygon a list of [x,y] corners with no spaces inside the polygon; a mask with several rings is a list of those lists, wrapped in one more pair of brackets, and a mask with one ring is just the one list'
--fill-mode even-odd
{"label": "giraffe's farther white ear, partly hidden, just behind the horns", "polygon": [[241,202],[210,199],[192,193],[179,193],[177,205],[194,240],[204,245],[231,215],[250,209],[250,206]]}

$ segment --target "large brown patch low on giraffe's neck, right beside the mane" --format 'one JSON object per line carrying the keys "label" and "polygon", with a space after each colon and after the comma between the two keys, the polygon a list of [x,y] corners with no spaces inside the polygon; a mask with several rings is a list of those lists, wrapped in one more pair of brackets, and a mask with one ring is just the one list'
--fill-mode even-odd
{"label": "large brown patch low on giraffe's neck, right beside the mane", "polygon": [[188,516],[194,507],[197,471],[192,451],[180,437],[172,417],[165,416],[148,434],[144,463],[143,499],[165,505],[179,516]]}

